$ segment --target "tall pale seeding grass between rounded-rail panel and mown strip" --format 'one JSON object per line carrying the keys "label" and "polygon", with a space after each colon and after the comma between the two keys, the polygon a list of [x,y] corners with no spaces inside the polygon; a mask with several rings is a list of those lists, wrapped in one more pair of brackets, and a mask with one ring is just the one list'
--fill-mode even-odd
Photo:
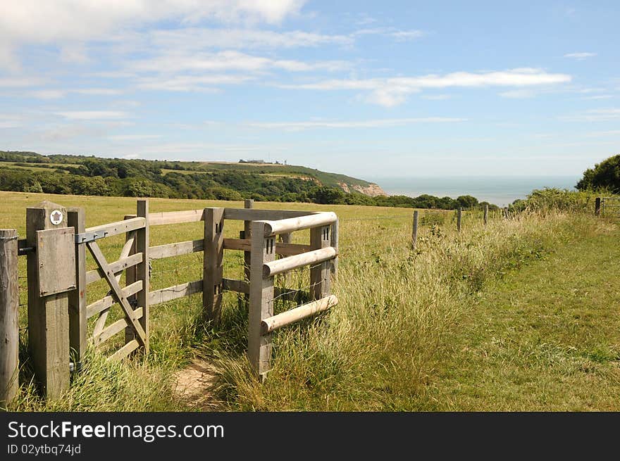
{"label": "tall pale seeding grass between rounded-rail panel and mown strip", "polygon": [[240,410],[408,410],[485,281],[597,226],[587,215],[526,211],[461,234],[435,228],[412,252],[402,235],[360,225],[356,257],[340,263],[340,304],[275,335],[262,386],[244,358],[219,358],[220,396]]}

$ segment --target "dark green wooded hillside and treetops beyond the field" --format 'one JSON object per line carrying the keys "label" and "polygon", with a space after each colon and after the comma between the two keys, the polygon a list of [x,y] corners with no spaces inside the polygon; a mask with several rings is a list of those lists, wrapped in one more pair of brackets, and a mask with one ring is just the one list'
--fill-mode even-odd
{"label": "dark green wooded hillside and treetops beyond the field", "polygon": [[[4,164],[3,164],[4,163]],[[196,171],[166,160],[41,156],[0,151],[0,190],[46,194],[307,202],[445,210],[477,206],[473,196],[370,197],[311,179],[239,170]],[[33,168],[35,167],[35,168]]]}

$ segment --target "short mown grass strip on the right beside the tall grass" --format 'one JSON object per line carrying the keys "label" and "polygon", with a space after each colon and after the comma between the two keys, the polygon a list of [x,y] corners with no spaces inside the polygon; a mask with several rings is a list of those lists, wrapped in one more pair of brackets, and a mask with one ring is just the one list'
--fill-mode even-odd
{"label": "short mown grass strip on the right beside the tall grass", "polygon": [[620,410],[620,232],[483,290],[418,410]]}

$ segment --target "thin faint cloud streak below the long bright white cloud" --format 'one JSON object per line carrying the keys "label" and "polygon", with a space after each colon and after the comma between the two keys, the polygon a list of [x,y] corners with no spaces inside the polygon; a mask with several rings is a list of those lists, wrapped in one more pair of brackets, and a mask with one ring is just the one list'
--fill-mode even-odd
{"label": "thin faint cloud streak below the long bright white cloud", "polygon": [[464,122],[466,118],[448,117],[422,117],[422,118],[383,118],[377,120],[311,120],[307,122],[250,122],[249,127],[255,128],[274,128],[278,130],[310,130],[313,128],[379,128],[379,127],[398,127],[412,125],[416,123],[451,123]]}

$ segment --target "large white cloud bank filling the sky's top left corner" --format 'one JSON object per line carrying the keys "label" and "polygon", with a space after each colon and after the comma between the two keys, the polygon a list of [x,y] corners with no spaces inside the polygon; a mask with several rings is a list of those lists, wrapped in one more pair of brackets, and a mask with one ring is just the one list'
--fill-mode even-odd
{"label": "large white cloud bank filling the sky's top left corner", "polygon": [[109,39],[125,27],[161,20],[192,24],[281,23],[296,15],[305,0],[20,0],[4,1],[0,15],[0,65],[16,68],[11,51],[23,44],[56,43],[65,61],[85,62],[83,43]]}

